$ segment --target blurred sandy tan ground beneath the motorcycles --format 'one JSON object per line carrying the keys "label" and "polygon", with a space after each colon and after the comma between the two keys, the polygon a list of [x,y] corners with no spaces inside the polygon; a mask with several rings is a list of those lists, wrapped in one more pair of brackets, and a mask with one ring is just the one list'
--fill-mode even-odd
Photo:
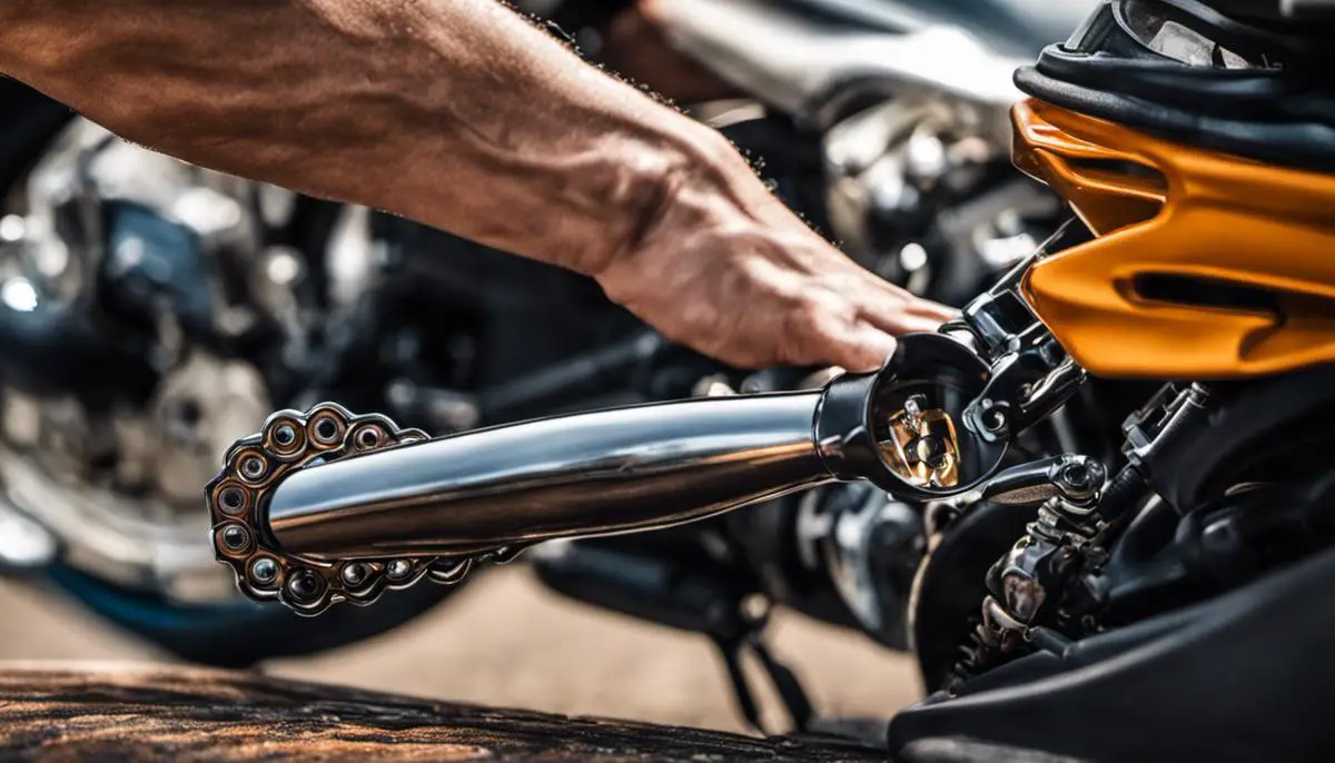
{"label": "blurred sandy tan ground beneath the motorcycles", "polygon": [[[909,658],[780,615],[772,644],[828,715],[889,716],[918,696]],[[0,660],[160,660],[51,591],[0,582]],[[266,667],[275,675],[433,699],[742,730],[713,647],[570,603],[522,567],[479,576],[378,639]],[[773,696],[766,719],[780,722]]]}

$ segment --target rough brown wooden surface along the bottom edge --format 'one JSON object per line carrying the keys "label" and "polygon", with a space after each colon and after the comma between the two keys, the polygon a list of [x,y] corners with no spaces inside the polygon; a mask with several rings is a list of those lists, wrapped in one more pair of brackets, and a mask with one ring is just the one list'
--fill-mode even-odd
{"label": "rough brown wooden surface along the bottom edge", "polygon": [[0,666],[3,760],[874,760],[756,739],[168,666]]}

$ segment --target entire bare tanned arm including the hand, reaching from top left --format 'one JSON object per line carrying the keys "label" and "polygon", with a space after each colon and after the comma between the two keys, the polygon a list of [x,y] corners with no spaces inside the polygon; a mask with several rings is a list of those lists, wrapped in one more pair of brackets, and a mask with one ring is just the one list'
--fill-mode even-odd
{"label": "entire bare tanned arm including the hand, reaching from top left", "polygon": [[952,315],[495,0],[3,0],[0,72],[187,161],[586,273],[740,367],[873,368]]}

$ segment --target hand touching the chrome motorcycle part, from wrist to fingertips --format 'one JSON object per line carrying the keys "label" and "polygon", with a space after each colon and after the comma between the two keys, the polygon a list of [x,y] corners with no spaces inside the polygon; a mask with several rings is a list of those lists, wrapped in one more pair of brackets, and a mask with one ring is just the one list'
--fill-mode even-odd
{"label": "hand touching the chrome motorcycle part, from wrist to fingertips", "polygon": [[[752,177],[754,180],[754,177]],[[858,267],[756,181],[682,184],[641,244],[595,273],[668,339],[741,368],[878,368],[894,336],[957,311]]]}

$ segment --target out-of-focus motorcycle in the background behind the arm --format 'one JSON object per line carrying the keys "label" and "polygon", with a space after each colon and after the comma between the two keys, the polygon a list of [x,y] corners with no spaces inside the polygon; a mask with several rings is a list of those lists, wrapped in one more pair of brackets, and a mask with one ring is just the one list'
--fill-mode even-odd
{"label": "out-of-focus motorcycle in the background behind the arm", "polygon": [[[634,69],[625,51],[637,48],[609,29],[623,16],[589,15],[599,5],[546,13],[590,55]],[[1008,167],[999,128],[1015,95],[1001,80],[1024,45],[922,12],[890,24],[854,11],[834,35],[821,5],[655,4],[654,60],[693,72],[663,85],[764,161],[776,193],[850,256],[963,303],[1060,216]],[[1016,20],[1001,28],[1039,23]],[[780,55],[797,40],[820,53],[818,72]],[[988,84],[939,76],[951,57]],[[818,76],[776,88],[794,67]],[[244,667],[335,647],[446,595],[405,591],[315,626],[235,592],[202,542],[198,486],[272,408],[338,399],[449,434],[790,388],[813,371],[720,367],[663,343],[591,281],[176,163],[13,81],[0,81],[0,571],[53,583],[190,660]],[[654,554],[680,563],[698,543]],[[268,638],[246,638],[256,632]]]}

